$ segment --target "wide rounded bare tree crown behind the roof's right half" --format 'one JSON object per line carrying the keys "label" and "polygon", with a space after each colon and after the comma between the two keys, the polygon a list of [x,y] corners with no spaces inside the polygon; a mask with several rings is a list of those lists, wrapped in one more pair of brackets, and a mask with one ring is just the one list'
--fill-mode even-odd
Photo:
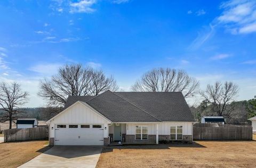
{"label": "wide rounded bare tree crown behind the roof's right half", "polygon": [[193,97],[198,88],[199,81],[183,70],[170,68],[148,71],[132,86],[133,91],[181,91],[185,98]]}

